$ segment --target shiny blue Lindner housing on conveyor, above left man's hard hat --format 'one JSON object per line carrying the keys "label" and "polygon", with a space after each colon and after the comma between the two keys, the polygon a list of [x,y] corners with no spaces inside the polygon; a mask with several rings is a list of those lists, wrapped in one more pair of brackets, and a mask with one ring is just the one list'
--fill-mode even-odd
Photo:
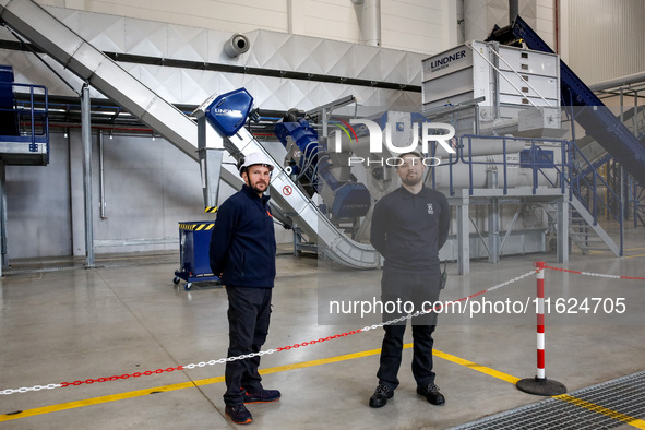
{"label": "shiny blue Lindner housing on conveyor, above left man's hard hat", "polygon": [[208,122],[223,135],[230,138],[247,122],[253,97],[246,88],[222,94],[205,110]]}

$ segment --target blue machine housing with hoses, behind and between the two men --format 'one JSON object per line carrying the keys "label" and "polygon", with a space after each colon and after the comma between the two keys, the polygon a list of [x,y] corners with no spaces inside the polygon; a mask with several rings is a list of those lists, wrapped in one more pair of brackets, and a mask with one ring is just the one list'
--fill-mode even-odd
{"label": "blue machine housing with hoses, behind and between the two men", "polygon": [[304,177],[319,193],[322,187],[330,187],[334,201],[325,207],[333,216],[355,218],[368,213],[371,204],[369,190],[362,183],[343,182],[334,177],[333,166],[318,143],[318,133],[307,120],[299,118],[297,122],[277,122],[275,135],[285,147],[290,136],[302,153],[299,163],[291,166],[292,175]]}

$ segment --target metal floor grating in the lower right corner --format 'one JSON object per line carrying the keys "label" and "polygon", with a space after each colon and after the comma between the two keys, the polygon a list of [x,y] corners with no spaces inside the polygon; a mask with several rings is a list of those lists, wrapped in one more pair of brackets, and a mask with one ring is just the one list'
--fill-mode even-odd
{"label": "metal floor grating in the lower right corner", "polygon": [[[481,418],[462,429],[612,429],[645,419],[645,371]],[[638,422],[638,428],[643,422]]]}

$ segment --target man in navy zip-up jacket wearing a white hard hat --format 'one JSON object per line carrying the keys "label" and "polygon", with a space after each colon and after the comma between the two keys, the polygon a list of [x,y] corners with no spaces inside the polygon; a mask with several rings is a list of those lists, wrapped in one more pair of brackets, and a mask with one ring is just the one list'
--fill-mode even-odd
{"label": "man in navy zip-up jacket wearing a white hard hat", "polygon": [[[228,357],[261,350],[268,333],[271,296],[275,279],[275,232],[268,206],[273,162],[249,154],[240,164],[242,189],[217,211],[211,236],[211,270],[228,295]],[[275,402],[277,390],[264,390],[258,372],[260,357],[226,363],[226,415],[236,423],[253,421],[244,404]]]}

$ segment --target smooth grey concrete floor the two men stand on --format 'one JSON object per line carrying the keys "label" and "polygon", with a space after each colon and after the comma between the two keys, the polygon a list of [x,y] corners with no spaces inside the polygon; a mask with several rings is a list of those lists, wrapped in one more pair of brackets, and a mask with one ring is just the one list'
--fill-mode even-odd
{"label": "smooth grey concrete floor the two men stand on", "polygon": [[[644,228],[625,235],[625,256],[575,252],[571,270],[645,276]],[[356,318],[324,322],[319,310],[329,291],[354,287],[378,291],[380,272],[319,267],[315,258],[278,256],[271,333],[265,349],[362,329]],[[85,381],[207,362],[226,356],[226,291],[171,282],[178,254],[97,259],[97,268],[63,261],[13,262],[0,280],[0,390]],[[449,264],[442,300],[456,300],[531,271],[553,266],[554,254],[473,262],[457,276]],[[57,267],[52,271],[51,267]],[[547,315],[547,377],[569,391],[645,369],[645,283],[546,271],[547,297],[624,298],[626,311],[596,315]],[[535,297],[535,275],[485,294],[525,303]],[[320,290],[320,291],[319,291]],[[333,295],[332,295],[333,296]],[[353,297],[347,296],[347,297]],[[479,297],[479,301],[482,298]],[[589,303],[592,304],[592,303]],[[554,308],[554,304],[552,304]],[[531,308],[534,309],[534,308]],[[610,310],[610,309],[609,309]],[[319,315],[320,313],[320,315]],[[492,316],[492,318],[491,318]],[[382,330],[266,355],[266,387],[274,404],[250,405],[258,429],[444,429],[542,399],[513,381],[536,374],[535,310],[522,314],[442,315],[435,332],[437,383],[446,405],[415,392],[404,351],[401,386],[381,409],[368,407],[375,385]],[[329,322],[329,321],[327,321]],[[333,322],[333,321],[332,321]],[[409,332],[409,330],[408,330]],[[407,342],[411,342],[409,333]],[[0,395],[0,427],[11,429],[225,429],[223,365],[148,377]],[[195,382],[195,383],[192,383]],[[11,415],[9,415],[11,414]],[[640,417],[645,418],[645,417]],[[632,428],[624,426],[625,428]]]}

